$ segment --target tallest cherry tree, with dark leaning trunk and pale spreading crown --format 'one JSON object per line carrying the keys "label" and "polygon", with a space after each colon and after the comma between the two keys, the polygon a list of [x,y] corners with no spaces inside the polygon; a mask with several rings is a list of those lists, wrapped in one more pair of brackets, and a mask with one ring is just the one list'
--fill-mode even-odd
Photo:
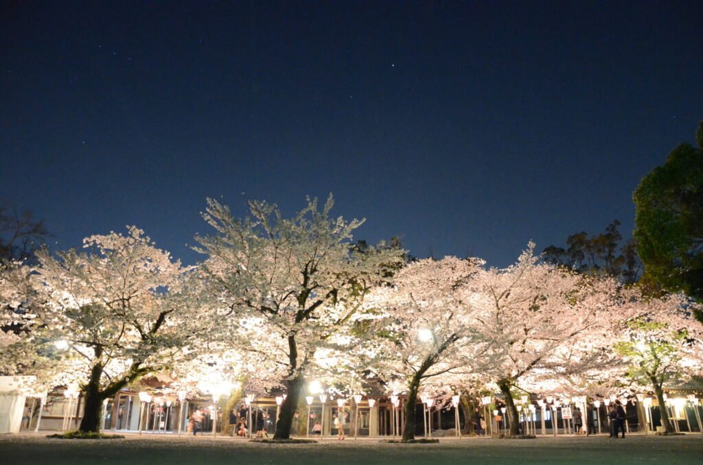
{"label": "tallest cherry tree, with dark leaning trunk and pale spreading crown", "polygon": [[275,204],[249,205],[251,217],[238,219],[208,199],[203,216],[215,233],[196,240],[207,254],[202,269],[220,304],[215,317],[229,327],[225,336],[231,327],[248,333],[244,344],[231,343],[256,353],[259,365],[271,370],[264,379],[288,392],[274,435],[286,439],[306,376],[322,365],[318,349],[342,342],[335,336],[349,331],[366,294],[389,278],[403,251],[352,247],[352,231],[363,221],[330,218],[331,195],[323,209],[308,199],[292,218]]}

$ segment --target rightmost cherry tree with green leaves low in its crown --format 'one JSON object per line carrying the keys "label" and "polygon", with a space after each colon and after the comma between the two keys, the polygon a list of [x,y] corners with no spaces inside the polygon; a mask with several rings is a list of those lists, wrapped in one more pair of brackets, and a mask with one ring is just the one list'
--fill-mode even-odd
{"label": "rightmost cherry tree with green leaves low in its crown", "polygon": [[664,433],[671,433],[664,385],[703,373],[703,325],[694,317],[701,306],[683,294],[647,297],[631,289],[626,297],[623,306],[628,318],[619,323],[614,350],[627,378],[652,388],[661,407]]}

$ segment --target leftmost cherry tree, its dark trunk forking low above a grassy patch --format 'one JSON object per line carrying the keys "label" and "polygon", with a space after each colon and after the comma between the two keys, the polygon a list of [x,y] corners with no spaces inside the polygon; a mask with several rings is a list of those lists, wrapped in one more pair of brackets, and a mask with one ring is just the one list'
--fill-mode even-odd
{"label": "leftmost cherry tree, its dark trunk forking low above a grassy patch", "polygon": [[188,268],[132,226],[84,240],[85,252],[37,254],[43,302],[32,334],[59,348],[84,395],[79,431],[99,431],[102,402],[191,346]]}

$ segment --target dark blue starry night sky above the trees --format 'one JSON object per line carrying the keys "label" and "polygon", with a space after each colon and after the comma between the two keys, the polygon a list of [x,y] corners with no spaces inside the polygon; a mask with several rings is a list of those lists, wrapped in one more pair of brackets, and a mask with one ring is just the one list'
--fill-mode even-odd
{"label": "dark blue starry night sky above the trees", "polygon": [[217,197],[510,263],[614,218],[703,118],[697,1],[4,1],[0,199],[193,262]]}

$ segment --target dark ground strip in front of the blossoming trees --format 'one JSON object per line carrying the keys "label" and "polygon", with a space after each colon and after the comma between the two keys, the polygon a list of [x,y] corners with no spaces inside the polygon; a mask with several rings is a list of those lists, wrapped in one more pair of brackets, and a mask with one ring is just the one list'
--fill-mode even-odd
{"label": "dark ground strip in front of the blossoming trees", "polygon": [[22,464],[703,464],[703,435],[622,440],[538,438],[444,440],[435,445],[382,444],[347,438],[313,445],[268,445],[231,438],[57,440],[0,436],[0,463]]}

